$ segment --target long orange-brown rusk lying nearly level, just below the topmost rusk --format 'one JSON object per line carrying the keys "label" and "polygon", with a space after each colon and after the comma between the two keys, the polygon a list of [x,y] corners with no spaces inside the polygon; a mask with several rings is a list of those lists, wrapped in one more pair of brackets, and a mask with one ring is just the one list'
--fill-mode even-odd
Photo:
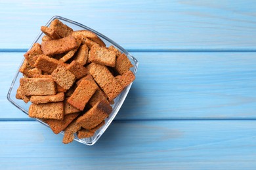
{"label": "long orange-brown rusk lying nearly level, just below the topmost rusk", "polygon": [[77,41],[72,36],[64,37],[62,39],[54,39],[51,41],[43,41],[41,44],[43,54],[47,56],[62,54],[77,47]]}

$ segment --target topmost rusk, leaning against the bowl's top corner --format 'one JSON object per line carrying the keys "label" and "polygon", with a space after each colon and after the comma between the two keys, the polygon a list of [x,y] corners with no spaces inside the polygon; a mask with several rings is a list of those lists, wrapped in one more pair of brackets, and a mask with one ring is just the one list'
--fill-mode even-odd
{"label": "topmost rusk, leaning against the bowl's top corner", "polygon": [[60,36],[60,37],[68,37],[68,35],[71,35],[73,32],[73,29],[71,27],[68,27],[68,25],[63,24],[62,22],[60,22],[60,20],[55,19],[51,22],[49,28],[53,29],[54,31],[56,31],[56,33]]}

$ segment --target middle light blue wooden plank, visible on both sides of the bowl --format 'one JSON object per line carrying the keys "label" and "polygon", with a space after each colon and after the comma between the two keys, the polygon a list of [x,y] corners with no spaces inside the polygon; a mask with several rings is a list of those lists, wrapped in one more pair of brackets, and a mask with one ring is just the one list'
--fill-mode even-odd
{"label": "middle light blue wooden plank, visible on both sides of the bowl", "polygon": [[[27,118],[6,99],[23,53],[0,63],[0,118]],[[116,120],[256,118],[256,53],[133,52],[137,78]]]}

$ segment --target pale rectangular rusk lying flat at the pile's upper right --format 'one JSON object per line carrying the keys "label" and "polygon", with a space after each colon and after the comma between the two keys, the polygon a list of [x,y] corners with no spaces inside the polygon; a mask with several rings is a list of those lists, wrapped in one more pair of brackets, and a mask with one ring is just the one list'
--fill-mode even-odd
{"label": "pale rectangular rusk lying flat at the pile's upper right", "polygon": [[100,46],[93,46],[89,52],[89,61],[101,65],[115,67],[116,52],[102,48]]}

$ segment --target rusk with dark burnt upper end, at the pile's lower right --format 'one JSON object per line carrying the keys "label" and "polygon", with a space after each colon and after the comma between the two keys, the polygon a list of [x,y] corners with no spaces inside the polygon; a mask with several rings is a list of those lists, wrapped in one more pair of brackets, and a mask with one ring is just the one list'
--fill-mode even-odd
{"label": "rusk with dark burnt upper end, at the pile's lower right", "polygon": [[85,114],[77,118],[77,124],[85,129],[93,129],[98,126],[112,112],[112,107],[105,102],[99,101]]}

